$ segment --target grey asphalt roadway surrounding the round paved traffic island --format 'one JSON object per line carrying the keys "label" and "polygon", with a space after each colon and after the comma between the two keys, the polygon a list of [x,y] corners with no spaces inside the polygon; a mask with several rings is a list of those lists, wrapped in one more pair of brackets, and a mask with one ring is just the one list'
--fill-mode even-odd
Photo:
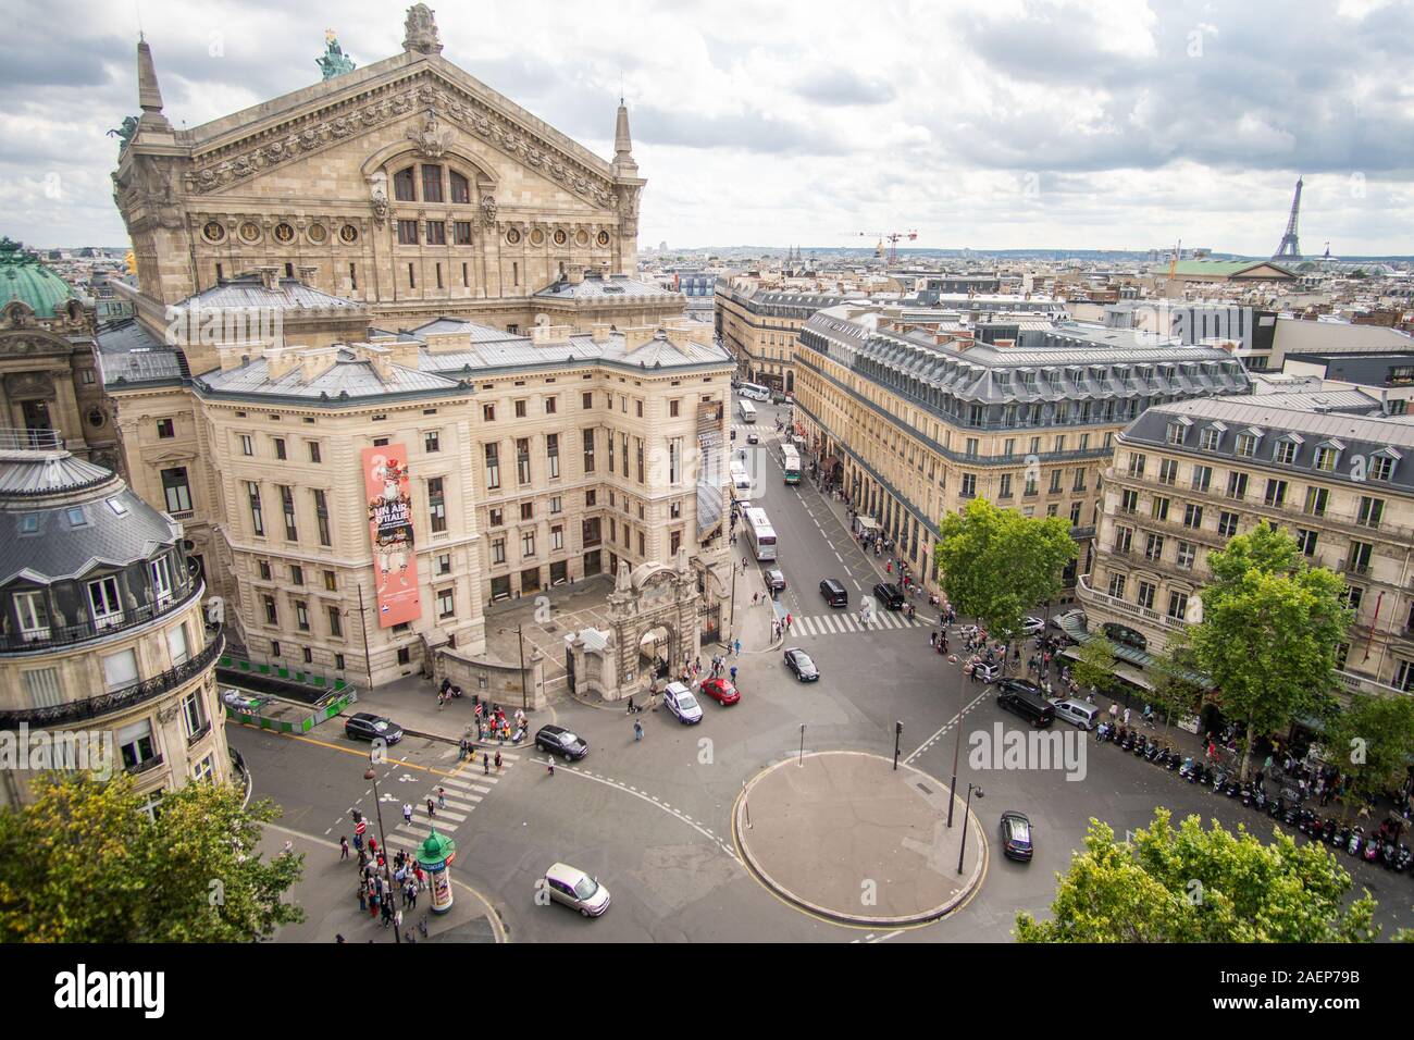
{"label": "grey asphalt roadway surrounding the round paved traffic island", "polygon": [[[775,410],[759,409],[765,447],[776,443]],[[744,444],[741,433],[734,444]],[[1090,816],[1123,833],[1150,822],[1155,805],[1168,805],[1179,818],[1198,812],[1227,826],[1268,826],[1233,799],[1109,746],[1085,747],[1083,780],[1066,780],[1063,770],[969,768],[973,734],[993,739],[998,723],[1021,730],[1019,720],[997,709],[987,688],[964,683],[957,665],[932,652],[926,627],[843,625],[840,611],[823,606],[819,582],[844,580],[857,604],[877,580],[872,557],[854,548],[812,485],[785,487],[779,468],[772,475],[762,467],[762,474],[761,501],[781,538],[779,566],[788,580],[782,606],[810,618],[786,645],[807,648],[822,681],[796,683],[779,652],[747,654],[735,662],[740,705],[707,702],[704,720],[690,727],[659,710],[646,717],[642,743],[633,741],[631,720],[615,710],[559,702],[557,722],[590,741],[590,756],[574,767],[559,764],[551,777],[543,756],[527,751],[455,821],[454,870],[496,904],[512,941],[1007,941],[1018,910],[1046,911],[1053,874],[1082,846]],[[779,901],[741,866],[728,821],[747,778],[797,753],[802,743],[806,750],[892,754],[894,724],[902,722],[902,756],[946,781],[956,736],[947,726],[960,706],[966,710],[959,780],[981,784],[984,797],[974,809],[988,826],[1008,808],[1031,816],[1036,838],[1031,865],[1011,863],[994,849],[980,893],[960,913],[906,932],[812,918]],[[230,736],[255,770],[256,792],[286,805],[286,826],[337,840],[348,808],[359,798],[372,804],[359,760],[366,760],[366,746],[349,744],[337,730],[320,736],[322,743],[243,727],[232,727]],[[407,764],[383,767],[379,784],[396,788],[396,807],[404,790],[417,795],[407,801],[420,804],[434,790],[437,771],[457,768],[455,750],[447,746],[409,740],[395,751]],[[390,829],[400,822],[396,807],[385,805]],[[564,907],[536,906],[536,879],[556,859],[608,886],[614,906],[602,918],[587,921]],[[1414,925],[1414,879],[1345,862],[1357,884],[1380,899],[1381,923]]]}

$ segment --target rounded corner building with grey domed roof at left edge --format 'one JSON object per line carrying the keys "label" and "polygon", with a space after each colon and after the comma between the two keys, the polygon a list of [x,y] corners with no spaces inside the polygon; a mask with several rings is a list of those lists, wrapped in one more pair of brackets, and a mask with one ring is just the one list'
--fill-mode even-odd
{"label": "rounded corner building with grey domed roof at left edge", "polygon": [[[0,533],[0,730],[18,753],[110,737],[106,768],[133,775],[148,814],[165,791],[226,781],[225,638],[206,625],[181,524],[58,434],[6,429]],[[30,801],[34,777],[0,770],[0,804]]]}

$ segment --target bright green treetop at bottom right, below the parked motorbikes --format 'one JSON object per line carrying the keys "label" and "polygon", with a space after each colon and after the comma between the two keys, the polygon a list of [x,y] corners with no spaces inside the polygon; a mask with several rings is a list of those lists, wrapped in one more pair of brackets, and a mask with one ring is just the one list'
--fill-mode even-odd
{"label": "bright green treetop at bottom right, below the parked motorbikes", "polygon": [[1059,874],[1051,920],[1022,911],[1021,942],[1373,942],[1376,903],[1348,903],[1350,876],[1318,842],[1277,831],[1266,845],[1246,828],[1174,828],[1155,809],[1133,842],[1090,821],[1085,852]]}

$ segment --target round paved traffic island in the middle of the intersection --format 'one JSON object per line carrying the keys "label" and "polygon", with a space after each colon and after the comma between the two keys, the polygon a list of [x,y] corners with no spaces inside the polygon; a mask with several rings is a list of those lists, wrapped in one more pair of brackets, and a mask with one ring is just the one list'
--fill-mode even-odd
{"label": "round paved traffic island in the middle of the intersection", "polygon": [[923,924],[962,906],[987,869],[977,816],[959,799],[949,828],[949,799],[940,780],[904,764],[895,771],[882,756],[813,751],[745,784],[732,836],[752,874],[806,913],[867,927]]}

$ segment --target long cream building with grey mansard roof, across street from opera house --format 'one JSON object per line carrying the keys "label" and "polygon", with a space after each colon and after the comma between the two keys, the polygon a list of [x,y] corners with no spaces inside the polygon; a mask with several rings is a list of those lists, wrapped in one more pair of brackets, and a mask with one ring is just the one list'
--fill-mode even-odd
{"label": "long cream building with grey mansard roof, across street from opera house", "polygon": [[1135,330],[819,311],[796,348],[796,423],[817,464],[936,587],[937,522],[977,497],[1065,516],[1089,550],[1114,437],[1154,405],[1247,392],[1229,354]]}

